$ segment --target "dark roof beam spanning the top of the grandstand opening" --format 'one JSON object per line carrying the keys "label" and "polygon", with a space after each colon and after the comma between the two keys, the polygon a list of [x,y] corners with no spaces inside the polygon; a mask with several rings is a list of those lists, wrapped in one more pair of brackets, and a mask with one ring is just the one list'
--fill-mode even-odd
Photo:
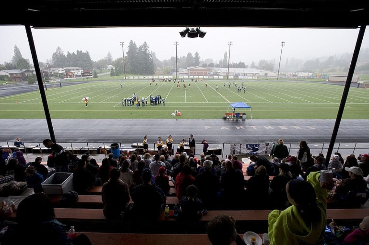
{"label": "dark roof beam spanning the top of the grandstand opening", "polygon": [[[63,18],[58,18],[63,16]],[[98,16],[98,18],[97,18]],[[30,12],[17,18],[3,18],[0,25],[30,24],[35,28],[57,27],[145,27],[145,26],[212,26],[212,27],[311,27],[311,28],[357,28],[369,24],[365,11],[269,11],[244,9],[213,9],[170,11],[65,11]],[[196,18],[195,18],[196,17]]]}

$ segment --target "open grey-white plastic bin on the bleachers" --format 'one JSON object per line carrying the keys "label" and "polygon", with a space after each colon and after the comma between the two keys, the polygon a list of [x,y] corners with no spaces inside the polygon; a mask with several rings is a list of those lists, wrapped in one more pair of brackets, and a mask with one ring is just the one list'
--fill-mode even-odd
{"label": "open grey-white plastic bin on the bleachers", "polygon": [[58,195],[73,190],[72,173],[55,173],[42,182],[46,194]]}

